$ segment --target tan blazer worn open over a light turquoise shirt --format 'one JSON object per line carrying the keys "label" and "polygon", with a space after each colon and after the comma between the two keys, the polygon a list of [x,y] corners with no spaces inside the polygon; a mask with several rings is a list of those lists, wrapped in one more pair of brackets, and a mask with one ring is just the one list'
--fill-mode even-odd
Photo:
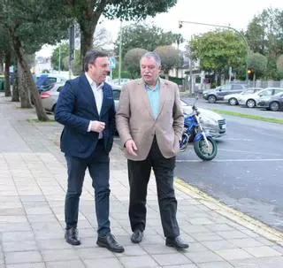
{"label": "tan blazer worn open over a light turquoise shirt", "polygon": [[121,89],[116,126],[122,144],[133,139],[137,146],[138,156],[134,157],[125,150],[126,158],[144,160],[148,157],[154,135],[162,155],[174,157],[179,151],[184,126],[178,86],[160,79],[159,111],[155,119],[143,80],[126,83]]}

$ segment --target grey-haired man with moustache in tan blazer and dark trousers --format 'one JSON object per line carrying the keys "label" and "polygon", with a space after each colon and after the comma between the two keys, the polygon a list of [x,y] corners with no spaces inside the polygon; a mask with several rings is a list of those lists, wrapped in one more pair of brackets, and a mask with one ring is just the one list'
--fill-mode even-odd
{"label": "grey-haired man with moustache in tan blazer and dark trousers", "polygon": [[140,64],[142,79],[122,87],[116,114],[117,129],[128,159],[131,241],[139,243],[143,238],[152,168],[157,180],[165,244],[187,249],[188,245],[180,240],[173,188],[173,171],[184,125],[179,88],[175,83],[159,78],[161,61],[157,53],[147,52]]}

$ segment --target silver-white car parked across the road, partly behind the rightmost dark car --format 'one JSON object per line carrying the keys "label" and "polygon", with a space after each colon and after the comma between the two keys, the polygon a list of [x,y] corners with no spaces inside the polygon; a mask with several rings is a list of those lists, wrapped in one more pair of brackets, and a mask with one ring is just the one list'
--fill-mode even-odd
{"label": "silver-white car parked across the road, partly behind the rightmost dark car", "polygon": [[239,98],[239,104],[248,108],[254,108],[262,97],[274,96],[275,94],[278,94],[280,92],[283,92],[283,88],[264,88],[253,94],[242,95]]}

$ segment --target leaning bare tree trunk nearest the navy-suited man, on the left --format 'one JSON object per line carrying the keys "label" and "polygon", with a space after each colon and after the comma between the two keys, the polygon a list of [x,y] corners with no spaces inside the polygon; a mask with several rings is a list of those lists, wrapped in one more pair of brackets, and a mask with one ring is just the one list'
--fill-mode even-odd
{"label": "leaning bare tree trunk nearest the navy-suited man, on the left", "polygon": [[49,118],[42,107],[42,102],[40,100],[38,90],[37,88],[35,88],[35,83],[32,77],[32,73],[30,72],[29,67],[27,65],[27,61],[25,60],[25,57],[22,54],[21,43],[19,41],[19,37],[16,34],[14,28],[10,27],[9,32],[11,35],[11,42],[12,42],[13,50],[15,51],[15,54],[18,57],[19,65],[21,67],[21,71],[23,74],[22,76],[26,79],[27,88],[29,88],[33,96],[33,99],[34,99],[34,106],[35,106],[37,119],[39,119],[40,121],[48,121]]}

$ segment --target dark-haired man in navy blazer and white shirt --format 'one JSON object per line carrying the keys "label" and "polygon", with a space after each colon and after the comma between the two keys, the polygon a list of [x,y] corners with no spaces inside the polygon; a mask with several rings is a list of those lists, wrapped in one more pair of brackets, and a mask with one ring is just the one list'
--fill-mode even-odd
{"label": "dark-haired man in navy blazer and white shirt", "polygon": [[123,252],[124,248],[111,234],[109,220],[109,152],[115,131],[115,106],[112,88],[104,82],[110,71],[107,55],[88,51],[84,69],[85,73],[65,83],[55,111],[55,119],[65,126],[60,142],[68,170],[65,241],[80,245],[79,203],[88,168],[96,196],[96,243],[111,251]]}

